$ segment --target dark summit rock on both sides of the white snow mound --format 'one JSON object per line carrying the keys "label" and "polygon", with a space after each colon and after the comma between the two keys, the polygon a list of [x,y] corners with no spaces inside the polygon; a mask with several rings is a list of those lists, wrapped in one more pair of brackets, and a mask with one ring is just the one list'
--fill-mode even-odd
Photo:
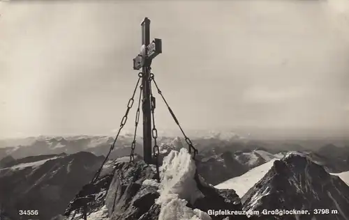
{"label": "dark summit rock on both sides of the white snow mound", "polygon": [[[103,208],[107,208],[110,220],[158,220],[161,212],[161,205],[156,203],[156,199],[160,196],[159,184],[156,183],[156,173],[153,165],[147,165],[142,160],[130,162],[116,162],[114,169],[110,174],[98,179],[96,184],[103,182],[104,188],[94,187],[96,191],[92,191],[91,195],[101,194],[101,191],[107,191],[105,196],[101,197],[98,204],[91,201],[89,214],[98,212]],[[106,181],[105,177],[108,177]],[[186,206],[191,209],[199,209],[204,212],[213,209],[242,210],[242,204],[239,196],[234,190],[219,190],[205,183],[203,178],[195,174],[193,177],[199,191],[203,195],[197,198],[193,204],[188,203]],[[110,180],[112,179],[112,180]],[[76,196],[70,204],[76,203]],[[73,205],[70,205],[73,207]],[[69,210],[70,209],[70,210]],[[79,215],[79,209],[67,209],[66,215],[68,219]],[[227,216],[211,216],[213,220],[221,220]],[[244,216],[228,217],[228,219],[246,219]]]}

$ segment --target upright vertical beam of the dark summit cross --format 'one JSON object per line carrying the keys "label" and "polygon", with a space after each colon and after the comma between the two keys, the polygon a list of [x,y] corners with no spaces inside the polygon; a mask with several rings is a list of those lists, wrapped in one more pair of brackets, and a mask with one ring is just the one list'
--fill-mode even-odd
{"label": "upright vertical beam of the dark summit cross", "polygon": [[[150,43],[150,20],[146,17],[142,26],[142,45],[144,54],[147,54],[147,47]],[[150,61],[144,58],[142,66],[142,87],[143,87],[143,157],[144,162],[151,164],[151,109],[150,109]]]}

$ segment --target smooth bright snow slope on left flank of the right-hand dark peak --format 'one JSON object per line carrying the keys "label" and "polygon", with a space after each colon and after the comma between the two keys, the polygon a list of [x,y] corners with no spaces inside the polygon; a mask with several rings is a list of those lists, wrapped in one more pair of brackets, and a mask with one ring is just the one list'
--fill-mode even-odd
{"label": "smooth bright snow slope on left flank of the right-hand dark peak", "polygon": [[261,180],[265,176],[265,174],[268,173],[270,168],[272,168],[275,160],[276,159],[272,159],[265,164],[251,169],[243,175],[217,184],[215,187],[217,189],[234,189],[237,195],[241,198],[242,196],[244,196],[244,194],[246,194],[248,189],[251,189],[259,180]]}

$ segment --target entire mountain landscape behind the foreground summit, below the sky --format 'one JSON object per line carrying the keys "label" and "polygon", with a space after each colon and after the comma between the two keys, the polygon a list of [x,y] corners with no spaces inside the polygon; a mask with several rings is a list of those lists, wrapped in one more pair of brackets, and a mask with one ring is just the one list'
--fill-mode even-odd
{"label": "entire mountain landscape behind the foreground summit, below the sky", "polygon": [[[202,178],[202,180],[195,181],[204,181],[204,185],[211,185],[211,187],[216,185],[216,188],[221,190],[214,192],[212,190],[215,189],[211,187],[200,189],[204,190],[202,193],[206,196],[213,197],[207,197],[210,199],[204,200],[205,205],[203,206],[191,203],[193,207],[200,207],[202,211],[207,212],[210,206],[214,207],[214,203],[220,203],[218,202],[221,199],[220,196],[226,193],[232,196],[230,199],[234,198],[235,203],[240,203],[236,200],[240,201],[242,198],[241,207],[234,206],[235,210],[297,209],[301,207],[298,207],[295,201],[302,201],[304,204],[314,203],[319,208],[327,205],[332,209],[341,209],[340,214],[342,215],[336,215],[336,217],[343,220],[348,217],[344,208],[348,205],[346,201],[349,201],[349,198],[346,197],[348,196],[346,182],[349,182],[348,148],[337,147],[329,143],[316,150],[306,150],[303,146],[289,141],[282,143],[280,148],[275,148],[274,143],[270,144],[267,141],[242,139],[234,135],[231,136],[232,139],[223,137],[218,135],[193,139],[195,147],[200,150],[196,157],[195,170]],[[112,157],[104,166],[103,175],[107,176],[107,179],[103,179],[103,181],[107,182],[103,184],[112,184],[114,173],[119,172],[115,170],[114,159],[119,158],[117,161],[122,162],[123,167],[127,166],[127,170],[131,168],[132,165],[128,163],[128,155],[131,152],[132,140],[132,135],[120,136],[117,146],[112,152]],[[69,202],[77,199],[76,194],[82,186],[91,180],[101,166],[101,162],[105,159],[103,155],[109,150],[114,139],[109,136],[40,136],[11,141],[3,141],[1,144],[6,144],[6,148],[0,148],[2,150],[0,159],[2,218],[5,219],[6,216],[10,220],[19,219],[17,210],[20,208],[39,210],[40,216],[37,219],[45,220],[57,216],[57,214],[63,214]],[[137,137],[137,141],[136,154],[142,155],[142,139]],[[10,146],[9,143],[13,145]],[[14,144],[20,145],[14,146]],[[185,141],[179,137],[160,137],[158,144],[161,152],[161,164],[162,160],[168,157],[173,150],[179,152],[182,148],[186,148]],[[285,146],[289,148],[285,148]],[[142,159],[142,157],[137,158],[138,160]],[[184,161],[181,163],[186,164]],[[179,170],[181,168],[184,167],[179,167]],[[122,169],[126,171],[125,167]],[[145,187],[145,191],[142,192],[142,195],[148,190],[147,186],[143,187]],[[227,189],[230,191],[223,193]],[[107,201],[105,196],[108,190],[114,190],[114,188],[105,188],[104,197],[98,197],[99,205],[95,204],[96,208],[101,209],[105,205]],[[151,190],[149,193],[154,195]],[[309,191],[313,191],[313,193],[310,194]],[[339,194],[337,191],[341,193]],[[293,198],[290,195],[291,192],[297,196]],[[320,202],[316,201],[318,198],[316,196],[320,196]],[[146,203],[147,199],[140,203]],[[281,206],[265,202],[265,200],[278,199],[281,199],[279,201]],[[335,207],[336,203],[339,207]],[[124,201],[123,204],[130,205],[131,203],[128,204],[127,201]],[[228,205],[228,203],[224,204]],[[150,210],[151,212],[148,213],[152,215],[153,219],[156,219],[156,213],[159,212],[158,207],[156,207],[155,205],[154,210]],[[303,208],[312,209],[314,207],[308,205]],[[107,209],[107,207],[103,207],[103,209]],[[103,212],[104,216],[106,211],[103,209],[99,211]],[[131,212],[131,210],[129,211]],[[108,212],[110,214],[111,211]],[[98,216],[96,213],[95,215]],[[99,217],[104,219],[104,217]],[[323,219],[312,215],[309,217]],[[262,216],[251,218],[268,219]],[[309,219],[307,216],[290,217],[292,220],[297,220],[297,218]],[[28,217],[27,219],[36,218]],[[211,219],[223,219],[223,217],[211,216]],[[278,219],[278,217],[272,215],[269,219]],[[204,218],[204,220],[206,219]]]}

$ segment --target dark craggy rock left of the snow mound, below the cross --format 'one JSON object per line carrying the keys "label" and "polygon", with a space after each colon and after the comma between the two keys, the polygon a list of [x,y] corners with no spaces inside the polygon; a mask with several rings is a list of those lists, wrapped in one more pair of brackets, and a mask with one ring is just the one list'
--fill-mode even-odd
{"label": "dark craggy rock left of the snow mound, below the cross", "polygon": [[[105,173],[94,183],[94,190],[90,195],[96,200],[89,203],[89,214],[105,205],[110,219],[140,219],[151,210],[155,199],[158,198],[156,187],[142,185],[144,180],[154,179],[153,168],[138,159],[133,163],[116,162],[110,166],[113,166],[112,172]],[[79,198],[78,194],[70,202],[66,210],[68,219],[81,214],[78,207]]]}

